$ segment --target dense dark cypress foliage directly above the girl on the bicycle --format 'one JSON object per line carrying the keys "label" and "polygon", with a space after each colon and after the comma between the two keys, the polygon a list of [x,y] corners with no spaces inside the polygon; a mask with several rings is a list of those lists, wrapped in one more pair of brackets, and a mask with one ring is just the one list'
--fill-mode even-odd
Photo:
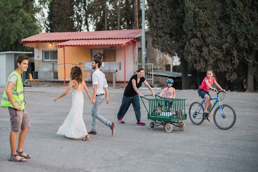
{"label": "dense dark cypress foliage directly above the girl on the bicycle", "polygon": [[227,53],[232,44],[230,22],[224,1],[187,0],[184,29],[187,32],[185,56],[197,71],[225,73],[228,80],[236,79],[239,60]]}

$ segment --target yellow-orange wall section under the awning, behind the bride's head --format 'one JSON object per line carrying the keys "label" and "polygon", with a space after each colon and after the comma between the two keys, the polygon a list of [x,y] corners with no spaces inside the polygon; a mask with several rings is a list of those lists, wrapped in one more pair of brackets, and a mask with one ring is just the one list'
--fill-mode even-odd
{"label": "yellow-orange wall section under the awning, behind the bride's head", "polygon": [[[88,72],[84,72],[84,62],[90,62],[89,47],[63,47],[65,48],[65,79],[70,79],[71,68],[78,66],[82,69],[82,77],[87,78]],[[64,56],[63,48],[58,49],[58,79],[64,79]]]}

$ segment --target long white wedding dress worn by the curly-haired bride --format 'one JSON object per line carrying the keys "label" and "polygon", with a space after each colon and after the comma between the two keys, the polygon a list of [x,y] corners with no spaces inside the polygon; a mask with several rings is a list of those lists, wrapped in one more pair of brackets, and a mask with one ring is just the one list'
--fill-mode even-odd
{"label": "long white wedding dress worn by the curly-haired bride", "polygon": [[76,91],[73,88],[71,88],[71,90],[72,107],[57,134],[65,135],[69,138],[80,139],[88,135],[82,119],[84,98],[82,91]]}

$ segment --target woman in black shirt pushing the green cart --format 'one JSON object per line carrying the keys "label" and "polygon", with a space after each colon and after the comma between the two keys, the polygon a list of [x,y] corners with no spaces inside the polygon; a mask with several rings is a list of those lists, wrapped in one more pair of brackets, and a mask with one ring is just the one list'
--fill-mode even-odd
{"label": "woman in black shirt pushing the green cart", "polygon": [[[131,103],[133,104],[133,110],[135,112],[137,123],[136,125],[145,125],[145,123],[141,122],[141,111],[140,111],[140,99],[139,96],[144,96],[140,93],[138,90],[139,87],[141,87],[141,83],[144,83],[148,89],[152,92],[152,96],[155,96],[154,91],[152,90],[152,87],[150,84],[145,80],[143,77],[144,69],[139,68],[136,75],[133,75],[128,82],[127,86],[125,87],[125,92],[123,95],[122,103],[120,106],[120,109],[117,113],[117,119],[118,122],[121,124],[125,124],[123,117],[125,113],[127,112],[129,106]],[[139,96],[138,96],[139,94]]]}

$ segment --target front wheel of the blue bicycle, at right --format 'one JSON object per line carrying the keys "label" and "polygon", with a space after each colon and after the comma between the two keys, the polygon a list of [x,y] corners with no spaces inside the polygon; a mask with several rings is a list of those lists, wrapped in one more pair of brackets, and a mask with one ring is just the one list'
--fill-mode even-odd
{"label": "front wheel of the blue bicycle, at right", "polygon": [[213,120],[215,125],[222,129],[227,130],[231,128],[236,122],[236,112],[229,105],[222,105],[222,113],[224,112],[225,117],[223,118],[220,113],[220,107],[218,106],[213,114]]}

